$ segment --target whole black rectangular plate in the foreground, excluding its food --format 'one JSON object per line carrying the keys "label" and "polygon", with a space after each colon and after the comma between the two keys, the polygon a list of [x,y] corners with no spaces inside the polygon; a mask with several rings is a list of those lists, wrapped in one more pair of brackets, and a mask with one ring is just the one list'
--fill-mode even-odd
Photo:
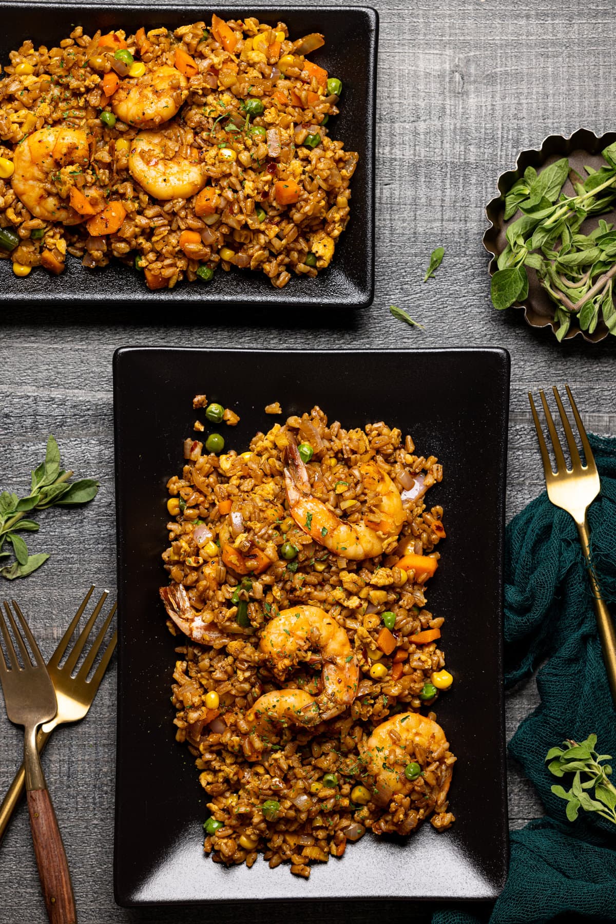
{"label": "whole black rectangular plate in the foreground, excluding its food", "polygon": [[[167,583],[166,481],[184,465],[192,397],[234,407],[238,452],[255,432],[315,404],[344,427],[385,420],[439,456],[447,540],[429,586],[454,675],[436,711],[457,755],[453,827],[407,841],[366,834],[308,881],[288,866],[225,869],[202,852],[207,796],[175,743],[175,646]],[[260,352],[122,348],[114,361],[119,614],[115,898],[120,905],[263,898],[489,899],[507,869],[502,696],[502,536],[509,355],[501,349]],[[283,418],[264,413],[280,400]],[[181,639],[179,639],[181,643]]]}

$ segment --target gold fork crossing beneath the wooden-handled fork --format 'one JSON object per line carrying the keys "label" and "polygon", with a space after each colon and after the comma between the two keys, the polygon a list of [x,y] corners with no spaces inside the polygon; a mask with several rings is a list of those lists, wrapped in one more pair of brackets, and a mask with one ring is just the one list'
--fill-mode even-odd
{"label": "gold fork crossing beneath the wooden-handled fork", "polygon": [[[54,650],[54,654],[47,664],[47,670],[54,685],[55,696],[57,699],[57,712],[55,713],[54,718],[50,722],[42,725],[42,728],[39,730],[39,734],[36,739],[36,746],[39,751],[42,751],[42,748],[45,747],[49,736],[52,734],[54,728],[56,728],[57,725],[68,722],[79,722],[79,719],[83,719],[83,717],[87,714],[91,707],[92,701],[96,696],[99,685],[103,680],[103,675],[107,669],[107,665],[111,661],[111,656],[114,653],[115,643],[117,642],[117,632],[114,633],[113,637],[109,641],[109,644],[104,650],[103,658],[101,659],[101,663],[99,663],[98,667],[96,668],[95,674],[92,676],[91,680],[88,681],[87,677],[91,671],[91,666],[94,663],[101,645],[103,644],[105,632],[107,631],[109,625],[111,624],[111,620],[114,617],[115,603],[111,609],[110,614],[105,619],[100,632],[94,639],[87,657],[79,668],[79,673],[75,677],[71,677],[71,673],[79,661],[79,655],[81,654],[81,651],[83,650],[84,645],[91,634],[91,630],[96,623],[98,615],[101,613],[103,603],[107,599],[107,591],[103,590],[101,599],[94,607],[88,622],[83,627],[79,638],[77,638],[73,648],[70,651],[70,654],[66,658],[66,663],[60,667],[60,661],[66,652],[68,642],[70,641],[77,626],[79,626],[79,620],[83,615],[88,601],[91,598],[93,590],[94,588],[91,587],[91,589],[84,597],[73,621],[66,629],[65,634],[60,639],[57,648]],[[4,801],[0,806],[0,840],[6,831],[6,825],[8,824],[8,821],[23,794],[25,779],[26,774],[24,765],[21,764],[18,772],[15,775],[15,779],[10,785]]]}

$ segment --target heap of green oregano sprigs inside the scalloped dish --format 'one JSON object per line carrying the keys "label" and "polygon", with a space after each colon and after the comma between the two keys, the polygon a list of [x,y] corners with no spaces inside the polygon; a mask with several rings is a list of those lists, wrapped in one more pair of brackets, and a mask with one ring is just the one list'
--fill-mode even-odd
{"label": "heap of green oregano sprigs inside the scalloped dish", "polygon": [[[586,218],[609,212],[616,201],[616,144],[602,152],[600,170],[585,167],[582,179],[566,157],[539,174],[527,167],[505,196],[505,220],[519,209],[522,216],[507,227],[507,246],[492,276],[492,304],[498,310],[523,302],[528,295],[528,269],[556,304],[556,336],[562,340],[573,317],[590,334],[599,319],[616,335],[616,230],[603,219],[583,234]],[[576,195],[562,193],[570,178]]]}

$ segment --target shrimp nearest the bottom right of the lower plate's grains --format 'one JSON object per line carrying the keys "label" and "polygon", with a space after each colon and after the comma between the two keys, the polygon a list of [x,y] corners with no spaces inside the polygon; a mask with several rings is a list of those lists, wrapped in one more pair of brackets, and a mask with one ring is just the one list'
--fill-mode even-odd
{"label": "shrimp nearest the bottom right of the lower plate's grains", "polygon": [[374,729],[363,748],[368,770],[376,780],[376,801],[389,802],[397,793],[407,794],[413,784],[405,776],[405,767],[410,760],[417,762],[422,770],[436,760],[441,761],[441,802],[452,781],[452,766],[444,764],[442,758],[449,749],[441,725],[417,712],[394,715]]}

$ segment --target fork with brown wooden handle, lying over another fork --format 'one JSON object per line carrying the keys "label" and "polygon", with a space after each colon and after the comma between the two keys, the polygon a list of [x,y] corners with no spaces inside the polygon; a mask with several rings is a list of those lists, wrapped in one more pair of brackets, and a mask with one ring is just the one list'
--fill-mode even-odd
{"label": "fork with brown wooden handle, lying over another fork", "polygon": [[[47,917],[52,924],[75,924],[75,899],[66,853],[36,748],[38,726],[53,719],[57,709],[54,685],[42,660],[41,651],[15,601],[13,607],[23,635],[19,632],[10,606],[5,603],[6,617],[17,642],[21,663],[0,610],[0,630],[6,650],[6,655],[0,654],[0,681],[5,694],[6,715],[11,722],[24,726],[30,828]],[[28,639],[31,657],[24,636]]]}

